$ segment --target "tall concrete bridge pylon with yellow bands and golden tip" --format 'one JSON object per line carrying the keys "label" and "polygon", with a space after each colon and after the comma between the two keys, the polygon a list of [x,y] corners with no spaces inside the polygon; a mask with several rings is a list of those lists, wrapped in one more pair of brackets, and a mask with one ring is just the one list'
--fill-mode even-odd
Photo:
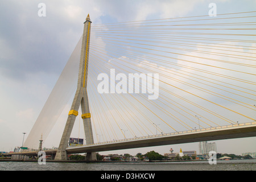
{"label": "tall concrete bridge pylon with yellow bands and golden tip", "polygon": [[[87,95],[87,77],[88,77],[88,63],[89,63],[89,45],[90,45],[90,26],[91,26],[90,16],[88,14],[84,22],[84,33],[82,35],[82,48],[80,56],[79,65],[79,77],[77,81],[77,90],[71,110],[68,113],[68,119],[63,131],[63,135],[60,140],[59,148],[56,152],[55,160],[66,160],[68,147],[68,140],[71,135],[75,119],[78,115],[78,110],[81,105],[82,111],[82,121],[84,123],[84,132],[86,144],[93,144],[93,133],[92,133],[92,123],[90,121],[90,110]],[[88,152],[86,155],[86,160],[96,160],[96,152]]]}

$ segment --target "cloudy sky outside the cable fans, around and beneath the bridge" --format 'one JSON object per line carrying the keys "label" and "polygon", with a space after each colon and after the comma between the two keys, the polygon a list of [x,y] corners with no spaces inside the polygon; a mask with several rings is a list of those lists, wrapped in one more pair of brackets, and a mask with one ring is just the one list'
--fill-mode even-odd
{"label": "cloudy sky outside the cable fans, around and beneath the bridge", "polygon": [[[46,16],[39,16],[39,3],[46,5]],[[85,18],[93,24],[128,22],[205,15],[209,3],[216,3],[217,14],[254,11],[255,1],[170,1],[170,0],[93,0],[93,1],[2,1],[0,6],[0,151],[21,146],[79,41]],[[255,22],[255,21],[254,21]],[[256,103],[255,103],[256,104]],[[68,112],[65,108],[64,112]],[[255,113],[256,114],[256,113]],[[255,115],[254,114],[254,115]],[[63,118],[64,119],[64,118]],[[50,136],[63,131],[56,123]],[[62,127],[62,128],[61,128]],[[220,153],[241,155],[256,152],[256,137],[211,141]],[[48,139],[47,147],[57,147],[59,139]],[[148,147],[100,154],[137,154],[170,148],[199,152],[198,143]]]}

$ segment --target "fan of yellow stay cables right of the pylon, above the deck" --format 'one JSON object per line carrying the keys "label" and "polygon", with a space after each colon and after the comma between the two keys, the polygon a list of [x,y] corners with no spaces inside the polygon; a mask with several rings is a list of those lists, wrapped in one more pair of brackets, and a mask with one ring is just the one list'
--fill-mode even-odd
{"label": "fan of yellow stay cables right of the pylon, above the deck", "polygon": [[[97,142],[254,121],[255,13],[92,24],[87,89]],[[114,86],[124,81],[111,70],[127,85],[129,74],[147,75],[158,98],[125,85],[99,93],[101,73]],[[134,82],[140,91],[143,79]]]}

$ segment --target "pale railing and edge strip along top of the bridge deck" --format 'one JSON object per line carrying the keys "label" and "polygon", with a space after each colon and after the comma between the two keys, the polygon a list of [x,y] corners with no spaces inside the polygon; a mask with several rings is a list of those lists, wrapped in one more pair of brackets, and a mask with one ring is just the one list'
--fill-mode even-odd
{"label": "pale railing and edge strip along top of the bridge deck", "polygon": [[73,147],[84,147],[84,146],[93,146],[93,145],[99,145],[99,144],[108,144],[108,143],[117,143],[117,142],[126,142],[130,140],[138,140],[138,139],[146,139],[146,138],[155,138],[155,137],[163,137],[163,136],[170,136],[170,135],[179,135],[179,134],[187,134],[187,133],[194,133],[197,131],[209,131],[209,130],[216,130],[216,129],[225,129],[229,127],[237,127],[237,126],[246,126],[246,125],[256,125],[256,122],[248,122],[248,123],[238,123],[234,125],[225,125],[225,126],[217,126],[217,127],[208,127],[204,129],[195,129],[195,130],[188,130],[188,131],[179,131],[174,133],[164,133],[164,134],[158,134],[158,135],[148,135],[144,137],[134,137],[134,138],[126,138],[126,139],[118,139],[118,140],[111,140],[107,142],[99,142],[99,143],[93,143],[93,144],[85,144],[82,146],[69,146],[68,148]]}

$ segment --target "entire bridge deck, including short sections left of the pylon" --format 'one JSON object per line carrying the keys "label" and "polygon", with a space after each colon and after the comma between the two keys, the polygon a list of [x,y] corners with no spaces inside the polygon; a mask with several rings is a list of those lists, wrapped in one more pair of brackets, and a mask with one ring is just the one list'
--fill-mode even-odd
{"label": "entire bridge deck, including short sections left of the pylon", "polygon": [[[167,144],[192,143],[210,140],[232,139],[256,137],[256,122],[242,123],[220,127],[210,127],[207,129],[180,131],[177,133],[167,133],[151,135],[148,137],[137,137],[130,139],[115,140],[111,142],[101,142],[80,147],[66,148],[67,154],[78,154],[86,152],[100,152],[111,150],[122,150],[126,148],[140,148],[162,146]],[[45,151],[47,155],[56,154],[57,150]],[[9,153],[10,155],[37,155],[38,151],[23,151],[22,153]]]}

